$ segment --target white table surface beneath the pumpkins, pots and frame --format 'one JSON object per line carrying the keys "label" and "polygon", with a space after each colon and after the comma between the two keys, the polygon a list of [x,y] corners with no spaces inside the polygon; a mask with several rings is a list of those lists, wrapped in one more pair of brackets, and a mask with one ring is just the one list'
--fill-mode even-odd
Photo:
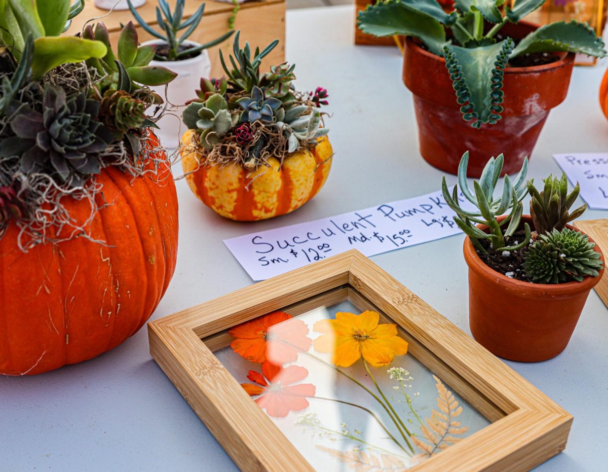
{"label": "white table surface beneath the pumpkins, pots and frame", "polygon": [[[329,217],[432,192],[442,172],[418,152],[412,97],[401,83],[395,48],[353,46],[351,6],[287,14],[286,54],[299,89],[323,86],[334,116],[336,152],[325,187],[302,209],[260,223],[221,218],[178,181],[178,265],[152,315],[162,318],[252,281],[224,238]],[[262,45],[263,46],[263,45]],[[567,100],[542,131],[530,176],[558,172],[553,153],[608,151],[598,106],[606,65],[575,68]],[[589,210],[585,218],[606,218]],[[470,333],[463,237],[372,257],[458,327]],[[589,296],[565,352],[544,363],[507,362],[574,415],[565,452],[542,471],[606,470],[608,310]],[[0,377],[0,470],[237,470],[148,352],[142,329],[91,361],[35,377]]]}

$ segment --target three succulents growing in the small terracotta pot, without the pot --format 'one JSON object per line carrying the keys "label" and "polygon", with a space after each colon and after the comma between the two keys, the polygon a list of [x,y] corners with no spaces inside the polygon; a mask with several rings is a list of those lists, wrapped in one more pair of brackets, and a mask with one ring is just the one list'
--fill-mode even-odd
{"label": "three succulents growing in the small terracotta pot, without the pot", "polygon": [[[508,175],[503,181],[502,195],[494,198],[496,184],[500,178],[503,156],[491,158],[486,164],[479,181],[473,181],[471,190],[466,180],[468,153],[462,156],[458,168],[458,185],[449,191],[446,178],[443,178],[442,192],[447,205],[454,210],[454,221],[471,239],[478,254],[500,254],[510,258],[511,252],[520,251],[520,269],[527,280],[533,283],[581,282],[584,277],[596,277],[603,268],[600,253],[595,251],[595,243],[586,234],[565,227],[568,221],[578,218],[587,209],[581,207],[568,212],[574,204],[579,185],[568,194],[568,181],[565,173],[560,179],[549,175],[544,179],[544,189],[539,192],[534,182],[526,181],[528,161],[514,182]],[[460,194],[469,201],[474,209],[465,209],[460,203]],[[534,226],[531,231],[528,223],[523,224],[520,241],[513,240],[517,231],[522,231],[523,198],[531,195],[530,213]],[[499,221],[500,216],[506,215]],[[478,224],[488,229],[483,231]],[[506,226],[506,229],[503,229]],[[513,241],[509,245],[507,241]],[[513,272],[511,272],[513,274]]]}

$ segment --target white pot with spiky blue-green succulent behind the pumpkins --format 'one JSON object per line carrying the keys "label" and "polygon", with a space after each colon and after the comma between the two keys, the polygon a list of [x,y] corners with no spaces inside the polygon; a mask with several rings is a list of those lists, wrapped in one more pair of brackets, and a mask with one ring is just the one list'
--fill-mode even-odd
{"label": "white pot with spiky blue-green succulent behind the pumpkins", "polygon": [[[137,13],[131,0],[127,0],[131,13],[139,25],[155,40],[146,41],[144,45],[156,46],[153,66],[167,66],[178,74],[178,77],[167,87],[167,102],[171,113],[167,113],[159,122],[159,137],[161,141],[170,148],[179,145],[181,129],[181,114],[184,111],[185,103],[190,99],[192,91],[198,86],[200,77],[209,77],[211,72],[211,62],[209,60],[209,47],[223,43],[232,36],[233,30],[229,30],[219,38],[205,44],[188,41],[190,35],[201,23],[202,15],[205,11],[205,4],[202,3],[196,12],[188,19],[183,19],[185,0],[177,0],[175,9],[171,12],[167,0],[158,0],[156,7],[156,18],[160,31],[155,30]],[[181,33],[180,32],[185,30]],[[158,94],[165,94],[165,87],[157,87],[154,90]]]}

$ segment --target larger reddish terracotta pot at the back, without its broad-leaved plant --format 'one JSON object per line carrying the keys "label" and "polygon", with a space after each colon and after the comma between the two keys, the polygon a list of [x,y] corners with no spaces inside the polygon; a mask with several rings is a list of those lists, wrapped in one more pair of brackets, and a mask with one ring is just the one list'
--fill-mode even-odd
{"label": "larger reddish terracotta pot at the back, without its broad-leaved plant", "polygon": [[[522,38],[536,29],[530,23],[506,24],[501,32]],[[530,157],[554,106],[568,92],[575,55],[558,53],[559,61],[527,68],[506,68],[502,119],[473,128],[460,105],[446,69],[446,61],[422,49],[412,38],[404,48],[403,82],[412,91],[420,153],[430,165],[457,173],[460,158],[469,151],[469,177],[479,177],[488,159],[505,154],[504,173],[519,171]]]}

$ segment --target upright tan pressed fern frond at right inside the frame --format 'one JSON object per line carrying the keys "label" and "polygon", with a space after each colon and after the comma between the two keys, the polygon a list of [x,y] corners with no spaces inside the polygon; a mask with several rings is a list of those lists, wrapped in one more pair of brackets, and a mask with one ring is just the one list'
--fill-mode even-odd
{"label": "upright tan pressed fern frond at right inside the frame", "polygon": [[455,420],[462,414],[462,407],[458,406],[458,400],[454,394],[447,390],[446,386],[437,376],[433,376],[437,384],[437,410],[433,409],[430,417],[427,417],[426,426],[421,426],[422,436],[412,436],[413,444],[423,451],[427,456],[432,456],[441,449],[446,449],[462,438],[455,436],[465,434],[469,431],[468,426],[462,426]]}

